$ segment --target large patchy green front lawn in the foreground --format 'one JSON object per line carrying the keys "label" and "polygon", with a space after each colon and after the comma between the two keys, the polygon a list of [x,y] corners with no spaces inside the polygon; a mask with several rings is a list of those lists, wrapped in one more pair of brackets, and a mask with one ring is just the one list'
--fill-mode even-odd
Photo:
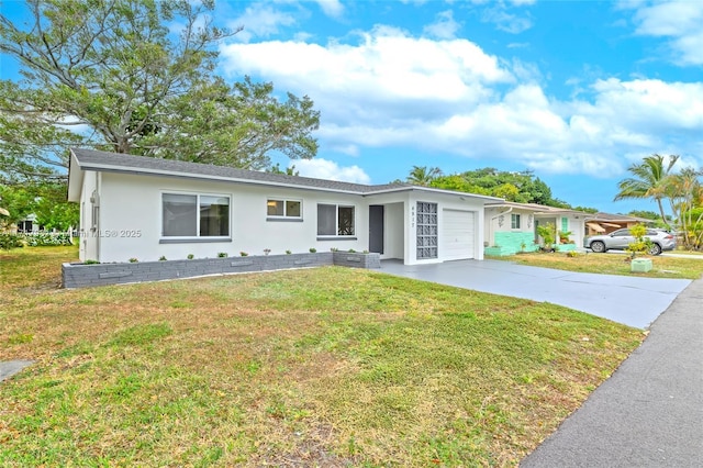
{"label": "large patchy green front lawn in the foreground", "polygon": [[566,308],[326,267],[57,290],[0,254],[1,466],[516,466],[638,346]]}

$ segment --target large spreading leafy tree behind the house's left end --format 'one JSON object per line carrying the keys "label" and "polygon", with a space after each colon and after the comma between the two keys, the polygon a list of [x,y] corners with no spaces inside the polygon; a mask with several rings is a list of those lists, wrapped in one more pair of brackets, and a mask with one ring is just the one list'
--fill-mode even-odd
{"label": "large spreading leafy tree behind the house's left end", "polygon": [[315,155],[319,113],[308,98],[281,103],[268,83],[214,75],[215,46],[236,31],[212,24],[212,0],[25,5],[25,22],[0,14],[0,52],[22,76],[0,81],[5,181],[65,172],[66,147],[78,144],[254,169],[272,151]]}

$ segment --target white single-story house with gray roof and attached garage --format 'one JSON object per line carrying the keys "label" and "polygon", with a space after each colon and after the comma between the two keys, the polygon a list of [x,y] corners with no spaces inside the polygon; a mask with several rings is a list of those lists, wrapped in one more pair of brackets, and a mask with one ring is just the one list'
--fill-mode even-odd
{"label": "white single-story house with gray roof and attached garage", "polygon": [[406,265],[483,258],[493,197],[366,186],[72,149],[68,200],[80,203],[80,259],[101,263],[320,252]]}

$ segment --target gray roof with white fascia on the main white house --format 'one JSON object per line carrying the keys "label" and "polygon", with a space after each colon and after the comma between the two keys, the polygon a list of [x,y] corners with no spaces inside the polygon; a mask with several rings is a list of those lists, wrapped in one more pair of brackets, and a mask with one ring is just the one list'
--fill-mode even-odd
{"label": "gray roof with white fascia on the main white house", "polygon": [[[334,191],[361,196],[400,190],[424,190],[469,196],[491,201],[501,200],[493,197],[431,189],[425,187],[412,186],[409,183],[383,183],[368,186],[364,183],[352,183],[337,180],[314,179],[311,177],[288,176],[257,170],[235,169],[232,167],[214,166],[210,164],[159,159],[154,157],[133,156],[127,154],[108,153],[94,149],[72,148],[71,153],[71,167],[69,169],[69,200],[75,199],[76,192],[74,190],[78,189],[77,185],[80,183],[80,181],[78,180],[75,180],[74,183],[71,183],[71,172],[80,171],[80,176],[77,176],[76,178],[80,178],[80,180],[82,180],[83,170],[186,177],[194,179],[210,179],[290,188],[305,188],[312,190]],[[78,165],[77,168],[74,167],[74,160]],[[71,186],[75,187],[74,190],[71,190]]]}

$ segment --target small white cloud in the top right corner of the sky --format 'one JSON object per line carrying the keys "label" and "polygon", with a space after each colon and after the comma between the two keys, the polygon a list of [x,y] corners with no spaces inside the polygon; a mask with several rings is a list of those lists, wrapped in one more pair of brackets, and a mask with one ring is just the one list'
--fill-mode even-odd
{"label": "small white cloud in the top right corner of the sky", "polygon": [[679,65],[703,65],[703,2],[677,0],[636,8],[637,34],[667,37],[671,59]]}

